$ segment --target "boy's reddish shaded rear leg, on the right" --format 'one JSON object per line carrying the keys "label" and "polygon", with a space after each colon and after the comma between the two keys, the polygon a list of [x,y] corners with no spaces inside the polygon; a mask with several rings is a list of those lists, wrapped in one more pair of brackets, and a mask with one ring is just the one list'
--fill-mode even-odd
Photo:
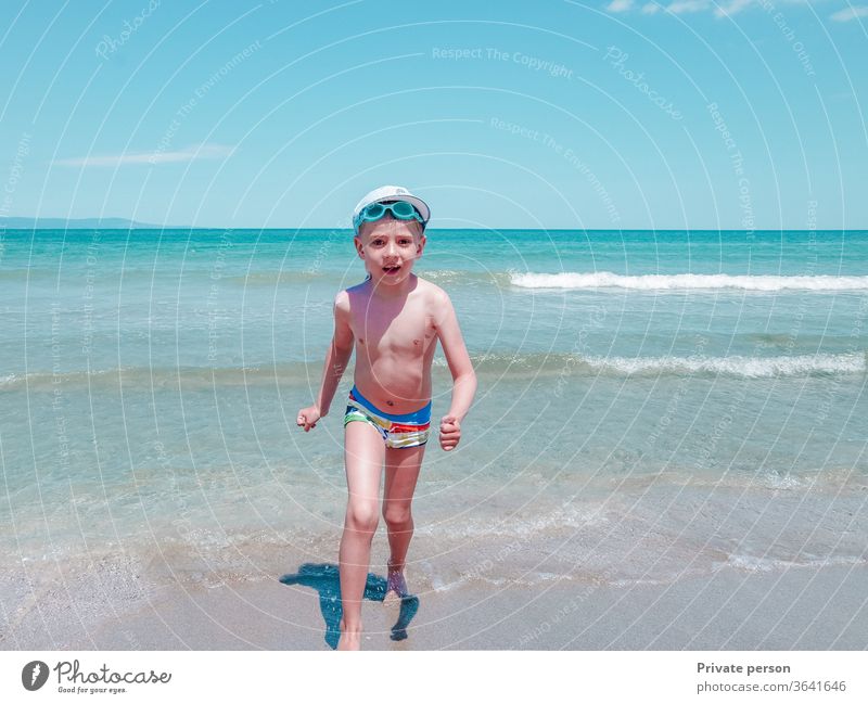
{"label": "boy's reddish shaded rear leg, on the right", "polygon": [[386,448],[386,485],[383,492],[383,519],[388,528],[388,585],[387,591],[398,597],[407,593],[404,565],[407,549],[413,537],[413,517],[410,505],[425,446]]}

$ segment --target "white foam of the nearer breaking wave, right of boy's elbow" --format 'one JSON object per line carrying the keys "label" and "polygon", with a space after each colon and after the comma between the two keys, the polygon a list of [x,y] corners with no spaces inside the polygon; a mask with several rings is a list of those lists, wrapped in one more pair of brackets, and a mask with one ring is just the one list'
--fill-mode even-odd
{"label": "white foam of the nearer breaking wave, right of boy's elbow", "polygon": [[805,374],[864,373],[865,353],[778,357],[586,357],[593,369],[617,374],[702,373],[762,379]]}

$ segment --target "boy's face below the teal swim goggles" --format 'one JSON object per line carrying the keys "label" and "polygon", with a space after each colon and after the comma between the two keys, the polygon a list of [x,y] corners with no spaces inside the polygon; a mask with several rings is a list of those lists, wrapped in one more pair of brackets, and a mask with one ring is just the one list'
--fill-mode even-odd
{"label": "boy's face below the teal swim goggles", "polygon": [[363,222],[356,236],[356,252],[365,260],[374,285],[396,285],[412,272],[425,248],[422,226],[416,220],[384,217]]}

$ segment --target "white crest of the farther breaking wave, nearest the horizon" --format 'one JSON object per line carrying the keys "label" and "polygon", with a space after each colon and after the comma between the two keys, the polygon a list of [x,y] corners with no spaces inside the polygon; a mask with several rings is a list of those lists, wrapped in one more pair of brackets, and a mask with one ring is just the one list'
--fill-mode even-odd
{"label": "white crest of the farther breaking wave, nearest the horizon", "polygon": [[868,277],[731,276],[726,273],[676,273],[621,276],[611,271],[578,273],[513,273],[510,283],[520,289],[630,289],[636,291],[686,291],[738,289],[742,291],[868,291]]}

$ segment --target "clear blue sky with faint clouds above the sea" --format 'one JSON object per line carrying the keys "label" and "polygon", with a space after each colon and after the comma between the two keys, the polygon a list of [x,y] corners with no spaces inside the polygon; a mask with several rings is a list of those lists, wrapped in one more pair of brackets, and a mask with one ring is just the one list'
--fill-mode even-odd
{"label": "clear blue sky with faint clouds above the sea", "polygon": [[0,216],[868,228],[863,2],[7,1]]}

